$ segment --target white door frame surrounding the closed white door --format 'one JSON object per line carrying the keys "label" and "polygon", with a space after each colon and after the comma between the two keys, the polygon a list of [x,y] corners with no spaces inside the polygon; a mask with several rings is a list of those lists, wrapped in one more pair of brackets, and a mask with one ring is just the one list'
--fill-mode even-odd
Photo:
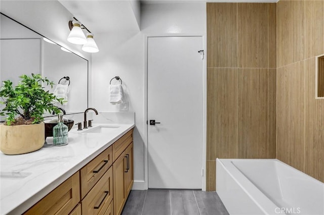
{"label": "white door frame surrounding the closed white door", "polygon": [[[201,174],[202,174],[202,190],[206,191],[206,145],[207,145],[207,40],[206,36],[204,35],[197,35],[197,34],[145,34],[145,41],[144,41],[144,67],[145,67],[145,74],[144,74],[144,116],[145,121],[148,121],[148,38],[149,37],[201,37],[203,40],[203,49],[204,49],[204,59],[203,59],[203,139],[202,141],[202,150],[201,150],[201,157],[202,157],[202,164],[201,167]],[[144,123],[145,123],[144,121]],[[144,137],[144,190],[148,189],[148,125],[145,124],[145,137]]]}

